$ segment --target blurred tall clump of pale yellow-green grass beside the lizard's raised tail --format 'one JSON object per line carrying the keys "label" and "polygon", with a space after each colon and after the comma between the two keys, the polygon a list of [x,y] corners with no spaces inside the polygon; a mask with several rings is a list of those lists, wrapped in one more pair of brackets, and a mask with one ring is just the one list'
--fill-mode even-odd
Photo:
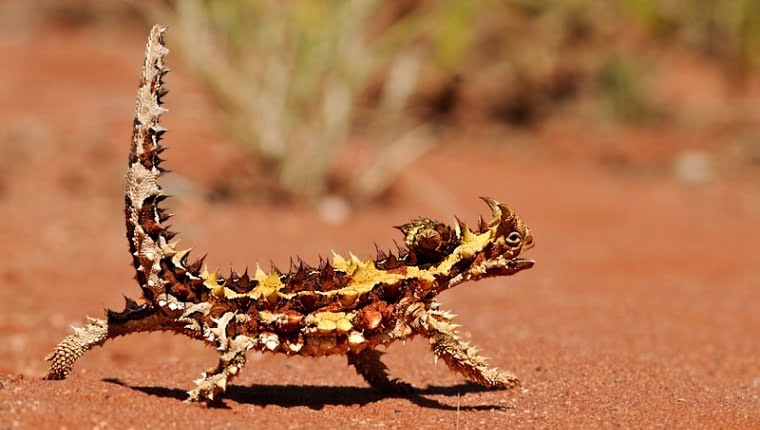
{"label": "blurred tall clump of pale yellow-green grass beside the lizard's raised tail", "polygon": [[186,0],[152,14],[173,24],[182,57],[225,110],[228,130],[296,196],[326,191],[357,101],[386,70],[369,120],[385,142],[349,181],[355,197],[371,198],[428,147],[403,115],[424,53],[407,20],[371,37],[366,27],[378,4]]}

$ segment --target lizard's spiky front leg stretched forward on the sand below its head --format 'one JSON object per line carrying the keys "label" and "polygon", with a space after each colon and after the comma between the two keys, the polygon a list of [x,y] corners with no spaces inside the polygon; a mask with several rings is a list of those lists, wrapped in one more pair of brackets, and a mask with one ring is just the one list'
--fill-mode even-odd
{"label": "lizard's spiky front leg stretched forward on the sand below its head", "polygon": [[432,306],[415,313],[412,329],[430,341],[430,347],[453,371],[488,388],[509,389],[519,387],[520,380],[503,370],[488,367],[486,359],[475,347],[460,339],[458,325],[451,322],[454,315]]}

